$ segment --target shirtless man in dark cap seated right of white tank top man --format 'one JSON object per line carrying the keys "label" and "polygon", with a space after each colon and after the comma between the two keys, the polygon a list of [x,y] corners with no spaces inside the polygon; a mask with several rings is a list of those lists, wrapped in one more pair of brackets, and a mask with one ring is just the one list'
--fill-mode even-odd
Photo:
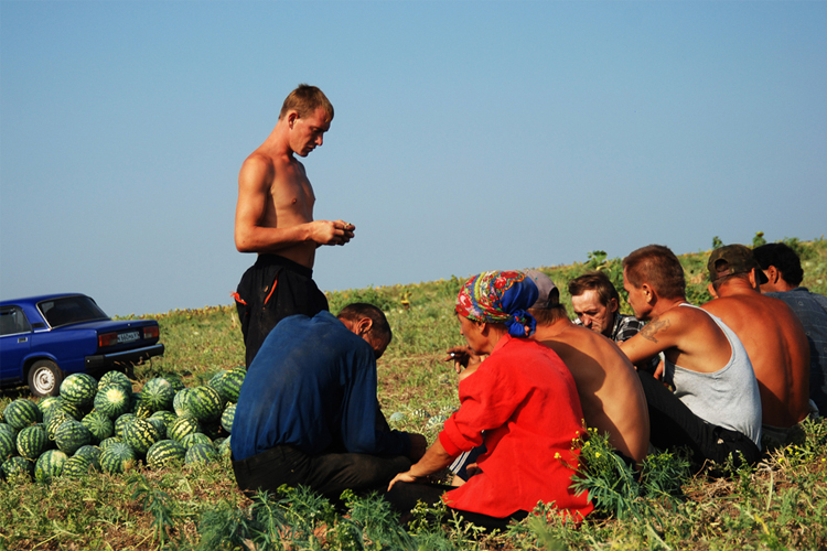
{"label": "shirtless man in dark cap seated right of white tank top man", "polygon": [[783,301],[758,291],[765,277],[748,247],[713,250],[707,268],[709,292],[716,299],[702,307],[743,343],[761,392],[764,437],[784,445],[809,414],[809,344],[804,328]]}

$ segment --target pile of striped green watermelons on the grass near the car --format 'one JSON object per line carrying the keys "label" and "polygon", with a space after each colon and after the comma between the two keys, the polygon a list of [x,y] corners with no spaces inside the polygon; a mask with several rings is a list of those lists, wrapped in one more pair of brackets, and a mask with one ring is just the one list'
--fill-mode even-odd
{"label": "pile of striped green watermelons on the grass near the car", "polygon": [[162,468],[228,456],[246,374],[243,367],[223,370],[192,388],[157,377],[140,392],[120,371],[99,381],[69,375],[60,396],[18,399],[0,412],[0,475],[25,473],[47,483],[93,469],[122,473],[139,462]]}

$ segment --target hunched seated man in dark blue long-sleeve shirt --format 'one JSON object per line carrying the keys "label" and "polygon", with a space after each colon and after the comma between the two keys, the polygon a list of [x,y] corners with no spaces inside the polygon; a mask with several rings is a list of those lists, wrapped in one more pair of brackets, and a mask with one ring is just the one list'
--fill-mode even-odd
{"label": "hunched seated man in dark blue long-sleeve shirt", "polygon": [[236,406],[230,445],[241,490],[303,485],[336,500],[347,488],[387,487],[423,455],[425,436],[391,431],[379,411],[376,360],[391,336],[372,304],[279,322]]}

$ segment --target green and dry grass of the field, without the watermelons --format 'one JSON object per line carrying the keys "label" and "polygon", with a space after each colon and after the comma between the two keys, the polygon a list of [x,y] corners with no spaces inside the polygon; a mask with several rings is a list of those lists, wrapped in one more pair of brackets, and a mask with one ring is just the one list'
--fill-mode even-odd
{"label": "green and dry grass of the field, without the watermelons", "polygon": [[[791,242],[803,258],[804,284],[827,293],[827,241]],[[708,251],[680,257],[695,303],[709,300],[707,257]],[[540,269],[568,301],[565,283],[594,268],[620,283],[620,260],[601,251],[583,263]],[[428,419],[459,404],[457,376],[442,358],[448,347],[463,344],[453,315],[461,283],[452,277],[329,294],[333,312],[359,301],[387,313],[395,337],[378,365],[379,401],[386,417],[404,414],[395,417],[401,419],[394,428],[421,432],[429,441],[439,425]],[[136,368],[136,390],[163,375],[179,376],[187,387],[202,385],[244,364],[234,307],[152,317],[161,324],[167,354]],[[25,389],[6,391],[0,410],[26,396]],[[582,526],[538,515],[494,536],[451,521],[419,522],[406,532],[384,503],[370,497],[351,496],[347,515],[302,490],[254,504],[237,490],[227,458],[193,468],[139,465],[122,475],[93,473],[50,485],[19,477],[0,482],[0,550],[827,549],[826,445],[827,423],[818,421],[796,445],[767,451],[756,467],[730,469],[724,478],[690,476],[683,457],[664,453],[652,456],[634,480],[595,436],[583,449],[590,469],[578,484],[599,507]]]}

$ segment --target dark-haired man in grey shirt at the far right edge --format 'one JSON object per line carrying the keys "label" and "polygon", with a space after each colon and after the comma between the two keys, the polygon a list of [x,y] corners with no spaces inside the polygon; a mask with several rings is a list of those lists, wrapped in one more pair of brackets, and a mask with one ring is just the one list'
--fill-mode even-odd
{"label": "dark-haired man in grey shirt at the far right edge", "polygon": [[783,242],[755,247],[752,256],[766,276],[761,292],[793,309],[809,343],[809,399],[827,414],[827,296],[799,287],[804,279],[798,255]]}

